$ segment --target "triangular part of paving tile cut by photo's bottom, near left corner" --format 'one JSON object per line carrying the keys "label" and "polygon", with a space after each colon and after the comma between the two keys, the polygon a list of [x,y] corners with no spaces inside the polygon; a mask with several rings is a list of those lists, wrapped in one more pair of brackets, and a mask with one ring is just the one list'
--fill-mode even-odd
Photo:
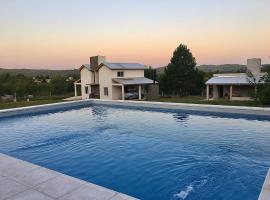
{"label": "triangular part of paving tile cut by photo's bottom, near left corner", "polygon": [[11,198],[8,198],[7,200],[53,200],[53,199],[38,191],[30,189],[20,194],[17,194]]}

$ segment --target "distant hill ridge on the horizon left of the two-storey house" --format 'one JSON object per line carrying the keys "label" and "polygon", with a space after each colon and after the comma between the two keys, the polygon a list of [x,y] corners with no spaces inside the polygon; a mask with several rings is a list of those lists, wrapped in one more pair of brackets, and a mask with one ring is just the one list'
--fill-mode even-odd
{"label": "distant hill ridge on the horizon left of the two-storey house", "polygon": [[3,69],[0,68],[0,74],[9,73],[12,75],[23,74],[24,76],[65,76],[79,77],[79,70],[47,70],[47,69]]}

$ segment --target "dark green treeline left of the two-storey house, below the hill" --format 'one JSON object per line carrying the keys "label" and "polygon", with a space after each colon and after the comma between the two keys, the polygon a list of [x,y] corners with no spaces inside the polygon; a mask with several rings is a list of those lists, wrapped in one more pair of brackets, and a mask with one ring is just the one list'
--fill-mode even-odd
{"label": "dark green treeline left of the two-storey house, below the hill", "polygon": [[73,80],[63,76],[31,78],[22,74],[0,74],[0,96],[52,96],[71,93],[73,90]]}

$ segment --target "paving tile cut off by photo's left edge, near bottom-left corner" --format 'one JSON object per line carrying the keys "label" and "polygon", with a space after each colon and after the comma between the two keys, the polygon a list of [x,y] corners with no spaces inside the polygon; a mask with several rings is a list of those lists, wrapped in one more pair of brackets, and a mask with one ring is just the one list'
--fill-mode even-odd
{"label": "paving tile cut off by photo's left edge, near bottom-left corner", "polygon": [[0,180],[0,200],[4,200],[18,194],[28,188],[8,178]]}

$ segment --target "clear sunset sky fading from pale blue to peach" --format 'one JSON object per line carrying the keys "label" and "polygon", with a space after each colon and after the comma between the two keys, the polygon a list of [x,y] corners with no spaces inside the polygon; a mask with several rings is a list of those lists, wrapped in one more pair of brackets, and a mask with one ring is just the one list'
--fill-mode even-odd
{"label": "clear sunset sky fading from pale blue to peach", "polygon": [[270,0],[0,0],[0,67],[73,69],[89,57],[197,64],[270,63]]}

